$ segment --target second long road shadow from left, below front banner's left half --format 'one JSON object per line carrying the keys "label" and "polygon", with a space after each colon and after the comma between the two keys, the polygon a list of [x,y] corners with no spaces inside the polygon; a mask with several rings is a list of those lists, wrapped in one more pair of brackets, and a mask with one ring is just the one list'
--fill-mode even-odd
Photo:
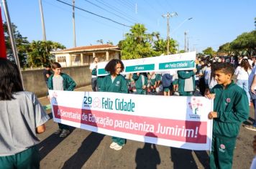
{"label": "second long road shadow from left, below front banner's left half", "polygon": [[91,132],[91,134],[83,140],[78,151],[64,163],[63,169],[82,168],[84,163],[86,163],[96,148],[98,148],[104,136],[105,135],[96,132]]}

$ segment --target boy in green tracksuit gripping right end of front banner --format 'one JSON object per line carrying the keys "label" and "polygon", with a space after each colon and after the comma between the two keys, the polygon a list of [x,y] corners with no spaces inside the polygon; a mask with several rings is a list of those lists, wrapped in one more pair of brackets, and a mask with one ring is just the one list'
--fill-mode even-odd
{"label": "boy in green tracksuit gripping right end of front banner", "polygon": [[214,111],[209,119],[214,119],[210,154],[211,168],[232,168],[233,151],[239,127],[247,120],[249,106],[246,92],[232,81],[234,67],[230,63],[214,65],[216,86],[211,94],[214,99]]}

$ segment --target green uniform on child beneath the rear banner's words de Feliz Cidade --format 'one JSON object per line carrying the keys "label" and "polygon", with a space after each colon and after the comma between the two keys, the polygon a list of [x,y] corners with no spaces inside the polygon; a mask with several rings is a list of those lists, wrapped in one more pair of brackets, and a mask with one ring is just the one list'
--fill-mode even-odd
{"label": "green uniform on child beneath the rear banner's words de Feliz Cidade", "polygon": [[[177,73],[178,73],[178,92],[180,96],[192,96],[193,91],[196,90],[196,82],[194,77],[195,73],[193,72],[193,70],[180,70]],[[186,82],[186,79],[190,79],[190,78],[192,78],[191,86],[193,85],[193,89],[191,91],[186,91],[185,82]]]}

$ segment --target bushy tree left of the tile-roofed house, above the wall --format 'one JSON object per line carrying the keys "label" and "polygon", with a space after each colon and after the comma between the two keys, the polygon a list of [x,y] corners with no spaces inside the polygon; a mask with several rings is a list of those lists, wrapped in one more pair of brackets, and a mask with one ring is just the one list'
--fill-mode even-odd
{"label": "bushy tree left of the tile-roofed house, above the wall", "polygon": [[29,44],[27,62],[29,67],[40,67],[50,63],[51,51],[65,49],[65,46],[52,41],[32,41]]}

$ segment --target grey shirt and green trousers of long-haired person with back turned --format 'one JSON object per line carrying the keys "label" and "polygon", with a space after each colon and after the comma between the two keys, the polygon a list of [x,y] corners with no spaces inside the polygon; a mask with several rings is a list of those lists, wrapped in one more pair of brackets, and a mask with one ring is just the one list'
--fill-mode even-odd
{"label": "grey shirt and green trousers of long-haired person with back turned", "polygon": [[36,128],[50,117],[32,92],[0,100],[0,168],[40,168]]}

